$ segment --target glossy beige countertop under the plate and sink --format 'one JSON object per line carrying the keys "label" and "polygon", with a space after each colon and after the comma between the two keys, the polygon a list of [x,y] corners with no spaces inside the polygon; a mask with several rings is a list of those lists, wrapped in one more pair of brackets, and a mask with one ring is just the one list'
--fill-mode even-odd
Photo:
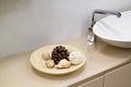
{"label": "glossy beige countertop under the plate and sink", "polygon": [[79,48],[86,54],[86,63],[80,70],[66,75],[49,75],[33,70],[26,52],[0,59],[0,87],[62,87],[85,78],[92,79],[131,60],[131,49],[109,46],[102,40],[88,46],[86,36],[60,44]]}

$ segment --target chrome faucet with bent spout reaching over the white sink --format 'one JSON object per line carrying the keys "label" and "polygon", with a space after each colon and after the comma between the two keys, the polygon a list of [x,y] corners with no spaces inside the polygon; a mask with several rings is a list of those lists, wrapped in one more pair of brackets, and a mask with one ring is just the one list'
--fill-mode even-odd
{"label": "chrome faucet with bent spout reaching over the white sink", "polygon": [[93,26],[95,25],[95,14],[114,14],[117,15],[117,17],[121,16],[120,12],[116,11],[106,11],[106,10],[95,10],[92,15],[92,21],[91,21],[91,26],[88,27],[88,33],[87,33],[87,44],[93,45],[96,41],[96,35],[93,33]]}

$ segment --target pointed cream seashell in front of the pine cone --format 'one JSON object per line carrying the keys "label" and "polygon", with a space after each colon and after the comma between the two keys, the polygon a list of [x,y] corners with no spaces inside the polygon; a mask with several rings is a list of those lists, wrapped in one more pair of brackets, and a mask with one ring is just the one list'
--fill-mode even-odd
{"label": "pointed cream seashell in front of the pine cone", "polygon": [[57,65],[56,65],[56,67],[58,67],[58,69],[68,69],[68,67],[70,67],[71,66],[71,63],[68,61],[68,60],[66,60],[66,59],[62,59]]}

